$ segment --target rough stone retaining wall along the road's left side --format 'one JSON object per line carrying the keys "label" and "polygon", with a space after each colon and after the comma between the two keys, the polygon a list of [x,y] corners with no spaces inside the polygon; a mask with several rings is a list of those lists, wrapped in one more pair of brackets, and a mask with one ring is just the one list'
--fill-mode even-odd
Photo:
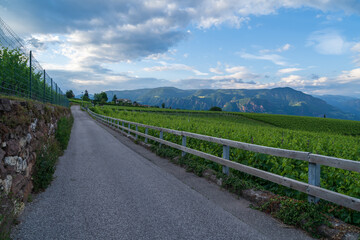
{"label": "rough stone retaining wall along the road's left side", "polygon": [[54,137],[68,108],[0,98],[0,194],[26,202],[32,191],[36,151]]}

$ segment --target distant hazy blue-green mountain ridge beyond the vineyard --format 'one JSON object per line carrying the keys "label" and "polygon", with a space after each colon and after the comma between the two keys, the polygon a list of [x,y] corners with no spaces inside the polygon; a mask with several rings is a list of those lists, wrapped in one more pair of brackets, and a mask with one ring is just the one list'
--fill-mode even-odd
{"label": "distant hazy blue-green mountain ridge beyond the vineyard", "polygon": [[[153,89],[106,91],[108,99],[116,94],[141,104],[173,109],[208,110],[213,106],[224,111],[259,112],[298,116],[313,116],[356,119],[356,115],[345,113],[326,101],[292,88],[273,89],[200,89],[182,90],[174,87]],[[359,118],[360,119],[360,118]]]}

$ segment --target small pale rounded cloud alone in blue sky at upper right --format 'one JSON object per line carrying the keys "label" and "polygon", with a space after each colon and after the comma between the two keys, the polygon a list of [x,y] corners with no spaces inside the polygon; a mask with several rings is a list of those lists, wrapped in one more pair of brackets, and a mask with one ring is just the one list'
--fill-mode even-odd
{"label": "small pale rounded cloud alone in blue sky at upper right", "polygon": [[314,47],[315,51],[324,55],[341,55],[347,52],[351,43],[334,30],[322,30],[313,32],[307,46]]}

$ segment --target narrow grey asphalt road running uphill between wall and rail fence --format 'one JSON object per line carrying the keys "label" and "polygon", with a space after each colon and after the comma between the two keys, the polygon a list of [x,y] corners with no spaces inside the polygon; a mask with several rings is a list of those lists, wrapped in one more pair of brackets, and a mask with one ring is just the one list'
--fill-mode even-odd
{"label": "narrow grey asphalt road running uphill between wall and rail fence", "polygon": [[55,179],[27,205],[14,239],[309,239],[72,112]]}

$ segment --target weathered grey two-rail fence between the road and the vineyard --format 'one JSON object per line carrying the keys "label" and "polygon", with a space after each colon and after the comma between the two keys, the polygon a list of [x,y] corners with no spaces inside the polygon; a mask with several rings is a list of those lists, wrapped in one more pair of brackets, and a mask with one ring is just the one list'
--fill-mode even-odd
{"label": "weathered grey two-rail fence between the road and the vineyard", "polygon": [[[318,154],[313,154],[309,152],[293,151],[280,148],[265,147],[255,144],[249,144],[244,142],[237,142],[229,139],[217,138],[212,136],[206,136],[196,133],[178,131],[168,128],[161,128],[156,126],[150,126],[146,124],[130,122],[123,119],[112,118],[104,115],[100,115],[92,112],[87,109],[88,113],[93,116],[95,119],[100,120],[101,122],[113,126],[117,129],[122,129],[127,131],[128,134],[134,133],[135,137],[142,136],[145,138],[145,142],[148,142],[148,139],[159,142],[160,144],[165,144],[167,146],[179,149],[182,151],[182,156],[186,153],[193,154],[198,157],[205,158],[207,160],[219,163],[223,166],[223,173],[229,174],[229,168],[236,169],[238,171],[289,187],[291,189],[298,190],[300,192],[308,194],[309,202],[318,202],[319,198],[339,204],[341,206],[360,211],[360,199],[350,197],[344,194],[340,194],[334,191],[327,190],[320,187],[320,165],[340,168],[349,171],[355,171],[360,173],[360,162],[352,161],[347,159],[328,157]],[[127,126],[125,126],[127,125]],[[136,130],[131,129],[131,125],[136,126]],[[145,128],[145,133],[139,132],[138,127]],[[159,138],[148,135],[148,129],[153,129],[159,131]],[[182,136],[182,145],[169,142],[163,139],[163,133],[170,133],[177,136]],[[195,138],[203,141],[213,142],[223,145],[223,157],[217,157],[208,153],[204,153],[195,149],[186,147],[186,138]],[[291,178],[283,177],[274,173],[270,173],[264,170],[260,170],[254,167],[243,165],[237,162],[229,160],[230,147],[243,149],[247,151],[257,152],[268,154],[277,157],[285,157],[290,159],[297,159],[306,161],[309,163],[308,178],[309,183],[304,183],[297,181]],[[359,186],[360,187],[360,186]]]}

